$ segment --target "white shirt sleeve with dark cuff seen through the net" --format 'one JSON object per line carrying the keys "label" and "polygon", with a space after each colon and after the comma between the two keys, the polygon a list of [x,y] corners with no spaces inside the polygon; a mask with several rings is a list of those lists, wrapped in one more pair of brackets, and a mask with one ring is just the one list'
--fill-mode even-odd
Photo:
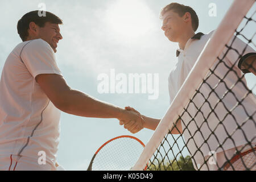
{"label": "white shirt sleeve with dark cuff seen through the net", "polygon": [[246,44],[240,38],[233,35],[228,43],[228,47],[225,47],[224,53],[226,51],[228,51],[226,53],[226,58],[230,63],[235,65],[235,67],[240,69],[243,73],[247,73],[246,70],[241,68],[242,61],[245,60],[248,54],[255,53],[255,50],[251,48],[249,44]]}

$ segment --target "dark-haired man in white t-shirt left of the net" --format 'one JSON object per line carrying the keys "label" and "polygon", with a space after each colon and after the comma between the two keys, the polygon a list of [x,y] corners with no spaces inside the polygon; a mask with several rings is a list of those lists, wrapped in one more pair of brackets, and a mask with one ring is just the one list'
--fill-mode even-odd
{"label": "dark-haired man in white t-shirt left of the net", "polygon": [[[57,67],[62,20],[46,11],[25,14],[17,29],[22,43],[7,57],[0,80],[0,170],[56,170],[60,110],[82,117],[138,123],[134,111],[96,100],[70,88]],[[46,161],[40,157],[46,157]]]}

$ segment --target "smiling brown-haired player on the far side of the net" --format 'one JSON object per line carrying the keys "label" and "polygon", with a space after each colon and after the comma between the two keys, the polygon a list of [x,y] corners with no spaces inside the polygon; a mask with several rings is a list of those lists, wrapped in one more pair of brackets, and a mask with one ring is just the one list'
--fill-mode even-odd
{"label": "smiling brown-haired player on the far side of the net", "polygon": [[[195,13],[195,11],[189,7],[180,5],[179,3],[171,3],[170,5],[167,5],[164,7],[160,14],[160,18],[163,20],[163,26],[162,30],[164,31],[164,35],[171,41],[171,42],[177,42],[179,43],[179,48],[176,51],[177,56],[177,63],[174,67],[174,69],[171,71],[170,76],[168,78],[168,84],[169,84],[169,94],[170,94],[170,104],[174,100],[176,94],[179,92],[179,89],[183,85],[185,78],[187,78],[189,72],[191,71],[193,65],[195,64],[197,58],[199,57],[201,51],[203,50],[205,44],[208,42],[210,37],[213,34],[213,31],[209,34],[203,34],[201,32],[195,34],[195,31],[197,30],[197,27],[199,26],[199,19]],[[233,40],[233,39],[232,39]],[[236,40],[233,42],[232,47],[239,52],[242,52],[243,49],[243,55],[242,59],[239,61],[239,63],[236,63],[236,60],[238,60],[238,54],[234,52],[234,50],[230,50],[227,55],[224,57],[223,61],[232,68],[234,65],[234,72],[237,73],[239,77],[242,77],[242,71],[250,72],[252,69],[246,69],[241,68],[241,65],[244,65],[244,62],[247,62],[246,65],[254,65],[253,70],[255,71],[255,51],[250,46],[246,47],[246,44],[242,42],[242,40],[236,38]],[[226,48],[223,51],[223,53],[226,52]],[[254,56],[254,59],[253,59]],[[250,59],[247,59],[247,57],[250,57]],[[246,61],[245,61],[246,60]],[[254,61],[254,63],[253,63]],[[248,66],[247,66],[248,68]],[[251,67],[250,67],[251,68]],[[221,78],[223,78],[224,82],[228,83],[235,83],[237,81],[237,78],[234,77],[232,74],[226,75],[228,72],[228,69],[224,66],[219,66],[216,68],[216,74],[219,75]],[[254,73],[255,74],[255,73]],[[212,78],[209,78],[211,81],[210,84],[216,85],[217,82],[214,82]],[[243,77],[242,82],[244,85],[246,85],[246,80]],[[205,84],[206,85],[206,84]],[[203,92],[209,93],[209,86],[202,86],[200,90],[203,90]],[[218,88],[215,90],[217,94],[225,93],[226,88],[224,85],[219,85]],[[244,97],[244,94],[247,93],[247,88],[243,87],[240,88],[239,86],[234,86],[232,89],[232,92],[236,94],[237,98]],[[204,93],[203,93],[204,94]],[[222,94],[223,95],[223,94]],[[221,96],[222,96],[221,95]],[[246,111],[248,113],[254,113],[255,111],[255,96],[253,96],[252,93],[248,94],[247,98],[243,99],[246,107]],[[245,101],[246,100],[246,101]],[[203,100],[201,98],[195,97],[193,99],[193,102],[195,104],[200,105]],[[209,103],[216,104],[218,102],[218,98],[209,98]],[[233,106],[236,105],[236,102],[234,103],[233,97],[230,95],[226,96],[225,99],[222,101],[225,102],[225,105],[230,108],[230,110],[233,108]],[[200,104],[199,104],[200,103]],[[222,108],[222,107],[221,107]],[[126,107],[127,110],[135,110],[133,107]],[[204,112],[204,114],[209,113],[209,109],[202,107],[201,111]],[[220,109],[216,107],[216,110],[214,110],[218,114],[223,114],[225,109]],[[242,130],[245,131],[247,140],[251,140],[251,144],[254,146],[256,143],[253,138],[255,138],[255,123],[253,122],[247,122],[245,124],[242,124],[243,121],[247,118],[246,113],[241,109],[240,107],[237,107],[233,111],[234,115],[236,115],[237,122],[242,126]],[[139,113],[137,111],[137,113]],[[223,129],[223,127],[217,127],[218,126],[218,120],[214,119],[212,117],[209,117],[207,119],[207,122],[209,123],[209,126],[211,127],[212,131],[217,135],[218,141],[216,138],[211,136],[210,130],[207,126],[202,126],[202,123],[204,122],[204,118],[199,119],[199,114],[196,115],[196,109],[191,109],[191,115],[195,115],[194,121],[199,123],[196,123],[197,126],[200,127],[201,132],[197,129],[195,126],[195,123],[191,122],[189,123],[189,118],[183,117],[183,122],[178,121],[176,123],[176,127],[174,127],[174,130],[172,130],[172,134],[183,134],[186,145],[188,147],[189,152],[191,152],[192,155],[192,162],[194,164],[195,169],[201,169],[201,170],[217,170],[218,167],[221,167],[224,162],[226,162],[226,157],[228,158],[230,156],[233,156],[236,152],[236,148],[241,148],[241,146],[247,144],[247,140],[245,138],[241,138],[241,131],[237,130],[233,135],[232,138],[236,140],[236,146],[234,146],[232,140],[225,139],[228,138],[228,135],[226,134],[226,131]],[[207,114],[206,114],[207,115]],[[255,115],[255,114],[254,114]],[[142,115],[144,118],[144,125],[143,127],[151,130],[155,130],[158,126],[158,123],[160,122],[160,119],[150,118]],[[230,119],[229,117],[226,118],[227,120]],[[255,121],[255,117],[253,118]],[[223,121],[226,125],[226,130],[229,133],[232,133],[237,127],[236,123],[232,123],[229,121]],[[120,125],[123,125],[122,122],[120,122]],[[130,129],[133,127],[131,123],[127,123],[124,125],[126,129]],[[215,130],[215,127],[217,128]],[[184,132],[183,132],[184,129]],[[201,135],[203,133],[204,136]],[[211,137],[209,137],[211,136]],[[207,144],[205,144],[205,138],[208,138]],[[192,138],[192,139],[191,139]],[[222,148],[218,148],[218,144],[222,144],[222,148],[224,148],[224,151],[221,150]],[[197,148],[196,146],[201,146],[200,148]],[[209,158],[209,147],[210,150],[214,151],[216,148],[218,148],[217,152],[217,165],[205,165],[205,161]],[[235,147],[235,148],[234,148]],[[199,152],[200,150],[201,152]],[[224,154],[225,152],[225,154]],[[202,155],[203,154],[203,155]],[[208,168],[209,167],[209,168]]]}

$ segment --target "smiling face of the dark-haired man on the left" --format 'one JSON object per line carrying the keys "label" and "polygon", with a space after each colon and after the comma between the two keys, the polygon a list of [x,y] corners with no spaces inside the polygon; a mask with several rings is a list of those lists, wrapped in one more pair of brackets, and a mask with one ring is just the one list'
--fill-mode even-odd
{"label": "smiling face of the dark-haired man on the left", "polygon": [[57,52],[57,43],[59,40],[63,39],[60,34],[59,24],[46,22],[44,27],[39,27],[39,38],[46,41],[53,49],[54,52]]}

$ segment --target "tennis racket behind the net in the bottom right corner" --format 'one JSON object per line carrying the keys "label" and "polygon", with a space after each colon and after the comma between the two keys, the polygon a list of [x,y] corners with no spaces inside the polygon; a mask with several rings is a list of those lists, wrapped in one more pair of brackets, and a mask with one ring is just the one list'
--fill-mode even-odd
{"label": "tennis racket behind the net in the bottom right corner", "polygon": [[[235,155],[229,162],[226,162],[224,171],[245,171],[246,168],[256,171],[256,147]],[[245,167],[246,166],[246,167]]]}

